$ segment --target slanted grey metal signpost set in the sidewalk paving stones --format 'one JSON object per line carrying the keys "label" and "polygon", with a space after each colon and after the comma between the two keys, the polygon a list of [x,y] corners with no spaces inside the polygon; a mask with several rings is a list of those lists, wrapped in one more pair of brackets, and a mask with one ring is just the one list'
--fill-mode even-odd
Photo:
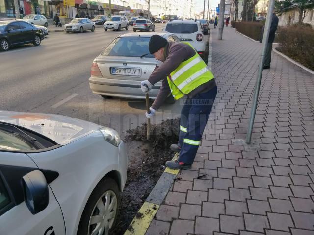
{"label": "slanted grey metal signpost set in the sidewalk paving stones", "polygon": [[275,5],[275,0],[269,0],[264,35],[263,35],[263,45],[262,45],[262,54],[261,54],[261,60],[260,60],[260,65],[259,65],[259,73],[258,73],[256,83],[255,83],[253,104],[252,104],[252,109],[251,109],[251,117],[250,117],[249,126],[248,126],[248,130],[246,134],[246,140],[245,140],[247,144],[251,142],[251,137],[252,137],[252,129],[254,125],[257,102],[259,99],[263,66],[264,66],[264,60],[265,60],[265,54],[266,54],[266,48],[267,48],[267,43],[268,43],[268,38],[269,38],[270,25],[271,25],[271,20],[273,16],[274,5]]}

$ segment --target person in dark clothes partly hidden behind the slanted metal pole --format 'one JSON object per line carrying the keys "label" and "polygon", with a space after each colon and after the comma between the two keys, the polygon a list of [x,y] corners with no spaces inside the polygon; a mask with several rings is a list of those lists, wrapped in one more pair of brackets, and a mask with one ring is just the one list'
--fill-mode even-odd
{"label": "person in dark clothes partly hidden behind the slanted metal pole", "polygon": [[[272,47],[273,47],[273,42],[275,40],[275,33],[276,33],[276,30],[277,30],[277,27],[278,27],[278,22],[279,22],[279,19],[276,16],[275,11],[273,11],[273,15],[272,15],[272,18],[271,18],[270,32],[269,32],[269,38],[268,38],[267,47],[266,47],[266,54],[265,54],[265,60],[264,60],[263,69],[269,69],[270,68],[271,51],[272,51]],[[264,28],[265,28],[265,25],[262,28],[262,33],[261,33],[261,37],[260,37],[260,43],[262,43],[262,40],[263,40]]]}

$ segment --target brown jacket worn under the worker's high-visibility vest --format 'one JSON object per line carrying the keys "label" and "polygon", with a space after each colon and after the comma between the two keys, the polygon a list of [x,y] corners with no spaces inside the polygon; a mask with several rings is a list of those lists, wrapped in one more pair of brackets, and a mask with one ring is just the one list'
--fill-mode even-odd
{"label": "brown jacket worn under the worker's high-visibility vest", "polygon": [[[155,110],[157,110],[162,105],[164,100],[171,93],[167,81],[167,76],[172,71],[174,71],[183,61],[186,61],[189,58],[193,57],[196,53],[196,51],[192,47],[178,42],[169,42],[166,46],[165,51],[166,60],[163,62],[162,65],[155,68],[155,70],[148,79],[148,81],[153,85],[162,80],[159,93],[157,94],[157,97],[152,105],[152,108]],[[196,94],[207,92],[215,86],[215,79],[212,79],[209,82],[204,83],[191,91],[188,94],[188,97],[193,98]]]}

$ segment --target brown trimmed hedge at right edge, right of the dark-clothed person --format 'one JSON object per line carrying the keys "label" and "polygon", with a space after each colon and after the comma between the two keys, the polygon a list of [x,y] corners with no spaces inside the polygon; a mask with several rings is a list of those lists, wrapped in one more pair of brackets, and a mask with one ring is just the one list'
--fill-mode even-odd
{"label": "brown trimmed hedge at right edge, right of the dark-clothed person", "polygon": [[277,31],[278,50],[314,71],[314,29],[293,25]]}

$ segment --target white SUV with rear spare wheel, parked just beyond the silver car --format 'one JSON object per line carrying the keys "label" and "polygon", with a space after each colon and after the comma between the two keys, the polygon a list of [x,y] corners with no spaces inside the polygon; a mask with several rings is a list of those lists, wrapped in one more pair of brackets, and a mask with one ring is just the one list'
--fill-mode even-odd
{"label": "white SUV with rear spare wheel, parked just beyond the silver car", "polygon": [[203,57],[206,42],[199,22],[196,20],[173,20],[167,22],[163,30],[175,34],[181,42],[190,43],[199,55]]}

